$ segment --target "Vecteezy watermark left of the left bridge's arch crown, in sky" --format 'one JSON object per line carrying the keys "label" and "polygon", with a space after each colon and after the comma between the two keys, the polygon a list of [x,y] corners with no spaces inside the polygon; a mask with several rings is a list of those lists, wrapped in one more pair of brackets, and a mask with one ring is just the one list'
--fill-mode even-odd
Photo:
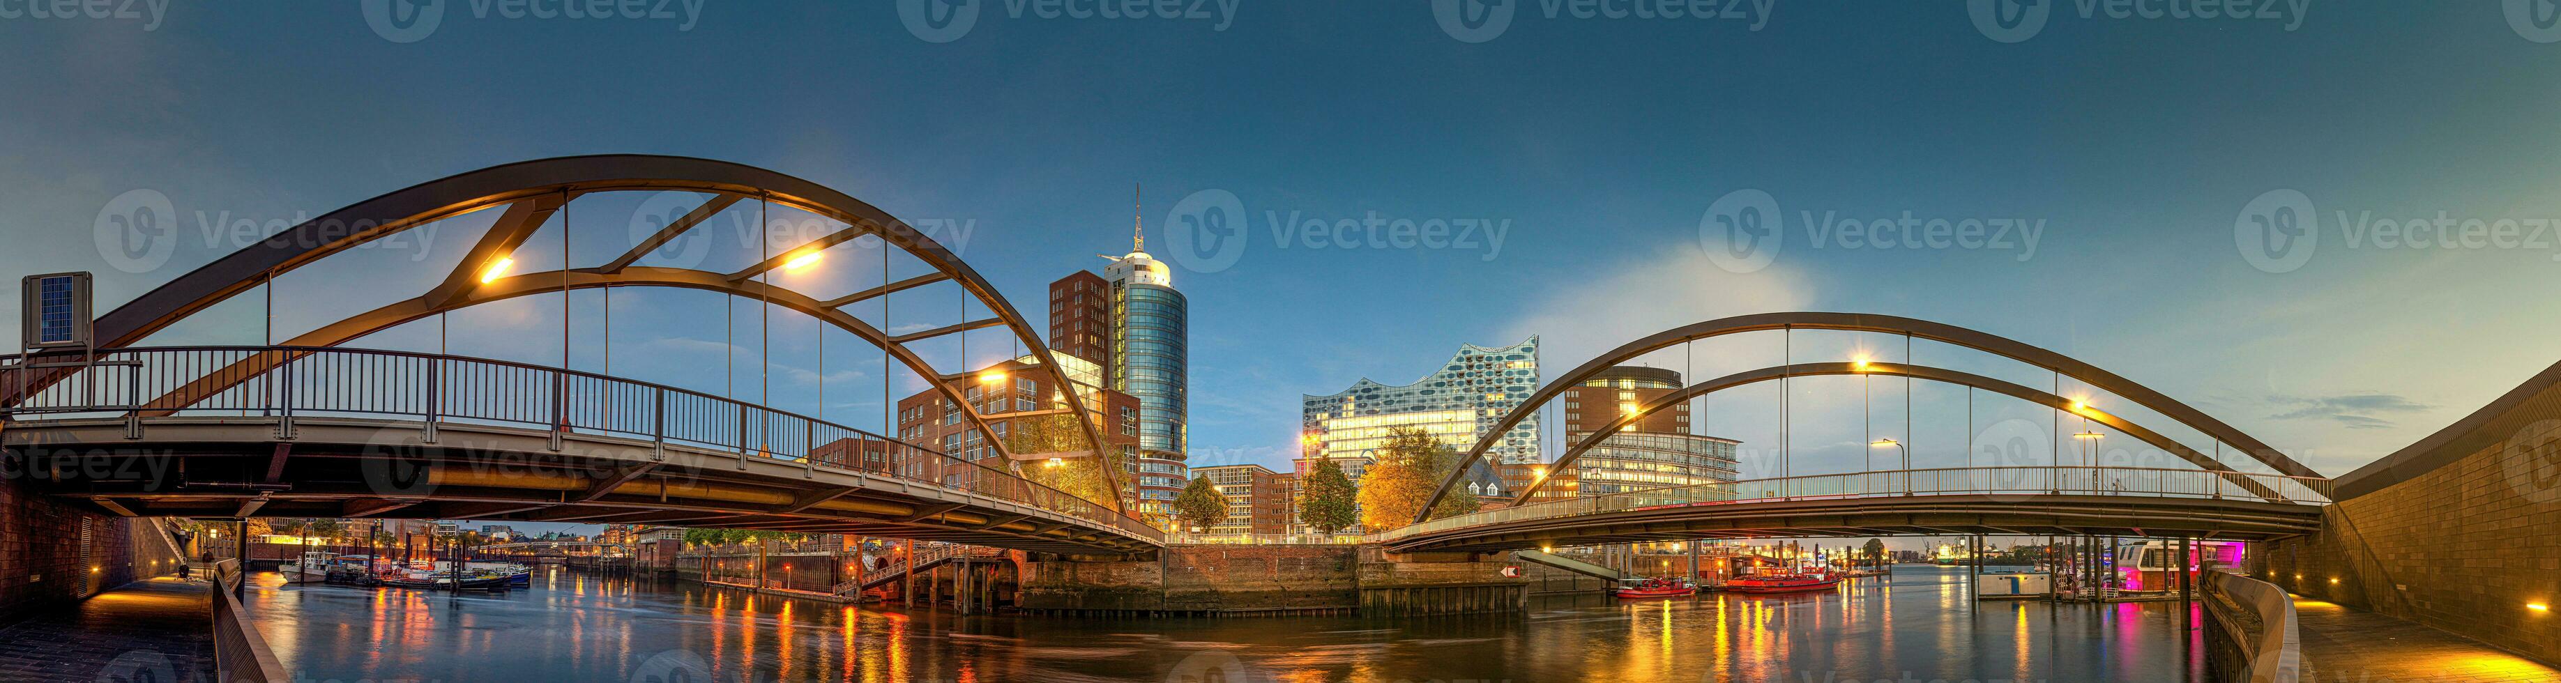
{"label": "Vecteezy watermark left of the left bridge's arch crown, in sky", "polygon": [[[325,246],[382,228],[376,220],[312,220],[310,212],[274,217],[236,215],[230,210],[192,210],[190,215],[195,217],[195,225],[184,225],[187,220],[182,220],[177,207],[169,202],[169,194],[159,189],[128,189],[97,210],[90,235],[97,243],[97,256],[102,256],[108,266],[128,274],[149,274],[166,266],[169,256],[177,253],[177,246],[190,238],[200,248],[220,248],[228,253],[274,240],[279,235],[287,235],[295,246]],[[438,228],[440,225],[435,223],[415,225],[366,240],[359,248],[394,248],[407,251],[410,261],[423,261],[435,246]]]}

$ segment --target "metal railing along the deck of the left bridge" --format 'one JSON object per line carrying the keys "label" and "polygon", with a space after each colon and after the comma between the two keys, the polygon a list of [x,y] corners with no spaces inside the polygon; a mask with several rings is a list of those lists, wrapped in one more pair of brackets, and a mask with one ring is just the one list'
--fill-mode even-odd
{"label": "metal railing along the deck of the left bridge", "polygon": [[274,417],[295,437],[297,417],[412,417],[435,425],[507,425],[563,435],[650,443],[786,460],[804,468],[891,476],[1083,519],[1163,542],[1129,514],[1035,483],[1004,468],[866,430],[663,384],[530,363],[310,345],[102,348],[0,356],[0,417],[123,417],[141,437],[146,417]]}

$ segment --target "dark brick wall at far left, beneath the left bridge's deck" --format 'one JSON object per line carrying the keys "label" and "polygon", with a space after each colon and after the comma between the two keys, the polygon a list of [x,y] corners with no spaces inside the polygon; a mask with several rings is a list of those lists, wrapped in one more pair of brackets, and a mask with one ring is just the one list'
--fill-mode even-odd
{"label": "dark brick wall at far left, beneath the left bridge's deck", "polygon": [[[82,563],[82,527],[90,532],[87,563]],[[0,478],[0,622],[131,581],[133,545],[125,519],[41,496],[26,478]]]}

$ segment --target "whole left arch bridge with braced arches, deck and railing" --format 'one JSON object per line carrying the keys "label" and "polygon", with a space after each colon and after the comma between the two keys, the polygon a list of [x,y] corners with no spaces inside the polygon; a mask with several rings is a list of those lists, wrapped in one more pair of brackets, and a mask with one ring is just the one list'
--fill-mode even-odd
{"label": "whole left arch bridge with braced arches, deck and railing", "polygon": [[[707,200],[597,266],[497,276],[553,212],[597,192],[699,192]],[[661,246],[740,202],[791,207],[840,230],[735,271],[640,266]],[[136,348],[333,253],[466,212],[497,220],[428,292],[264,348]],[[563,223],[566,230],[566,223]],[[878,238],[932,271],[814,297],[761,276],[855,238]],[[845,312],[896,292],[958,284],[989,317],[889,333]],[[1091,504],[935,448],[697,391],[487,358],[356,350],[341,343],[402,322],[548,292],[674,287],[799,312],[881,348],[955,404],[1006,463],[1099,455],[1012,453],[963,394],[968,368],[940,371],[909,345],[1006,327],[1047,368],[1058,407],[1091,414],[1040,333],[950,248],[889,212],[789,174],[684,156],[563,156],[466,171],[356,202],[269,235],[97,317],[97,353],[56,350],[0,366],[5,443],[59,496],[110,514],[479,517],[873,532],[1060,553],[1137,553],[1163,535],[1119,501]],[[965,312],[965,304],[963,304]],[[884,361],[886,363],[886,361]],[[891,407],[884,407],[884,414]],[[228,417],[215,417],[233,412]],[[82,476],[95,458],[164,453],[174,473]],[[64,471],[72,476],[64,476]],[[510,466],[515,471],[510,471]]]}

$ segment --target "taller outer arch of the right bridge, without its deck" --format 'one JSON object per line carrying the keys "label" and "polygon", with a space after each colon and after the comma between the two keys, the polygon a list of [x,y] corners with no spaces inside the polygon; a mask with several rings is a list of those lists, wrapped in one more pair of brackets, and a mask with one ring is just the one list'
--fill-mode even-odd
{"label": "taller outer arch of the right bridge, without its deck", "polygon": [[[2010,361],[2021,361],[2021,363],[2028,363],[2028,366],[2039,366],[2039,368],[2046,368],[2046,371],[2077,379],[2077,381],[2090,384],[2090,386],[2095,386],[2100,391],[2108,391],[2108,394],[2123,396],[2128,402],[2136,402],[2141,407],[2149,407],[2149,409],[2154,409],[2154,412],[2159,412],[2159,414],[2164,414],[2164,417],[2169,417],[2169,420],[2174,420],[2179,425],[2187,425],[2187,427],[2192,427],[2197,432],[2205,432],[2213,440],[2233,445],[2236,450],[2246,453],[2249,458],[2254,458],[2259,463],[2266,463],[2269,468],[2274,468],[2279,473],[2287,473],[2287,476],[2313,476],[2313,478],[2320,476],[2313,468],[2305,468],[2302,463],[2295,463],[2284,453],[2277,453],[2277,448],[2269,448],[2266,443],[2261,443],[2261,440],[2256,440],[2256,437],[2251,437],[2251,435],[2246,435],[2246,432],[2226,425],[2223,420],[2215,420],[2215,417],[2210,417],[2210,414],[2205,414],[2205,412],[2200,412],[2195,407],[2187,407],[2187,404],[2182,404],[2182,402],[2177,402],[2177,399],[2172,399],[2172,396],[2167,396],[2161,391],[2154,391],[2151,386],[2136,384],[2131,379],[2123,379],[2123,376],[2110,373],[2105,368],[2082,363],[2077,358],[2069,358],[2069,356],[2062,356],[2062,353],[2054,353],[2054,350],[2046,350],[2046,348],[2039,348],[2039,345],[2028,345],[2028,343],[2021,343],[2021,340],[2013,340],[2013,338],[2003,338],[2003,335],[1992,335],[1992,333],[1982,333],[1982,330],[1959,327],[1959,325],[1931,322],[1931,320],[1918,320],[1918,317],[1898,317],[1898,315],[1867,315],[1867,312],[1757,312],[1757,315],[1734,315],[1734,317],[1718,317],[1718,320],[1693,322],[1693,325],[1683,325],[1683,327],[1672,327],[1672,330],[1662,330],[1662,333],[1631,340],[1631,343],[1619,345],[1619,348],[1613,348],[1608,353],[1601,353],[1598,358],[1585,361],[1583,366],[1575,366],[1565,376],[1560,376],[1560,379],[1549,381],[1547,386],[1539,386],[1537,391],[1531,391],[1531,396],[1524,399],[1508,414],[1503,414],[1501,422],[1496,422],[1493,427],[1483,430],[1483,437],[1478,437],[1478,443],[1473,448],[1467,448],[1467,453],[1465,453],[1465,458],[1460,458],[1460,463],[1473,463],[1478,458],[1485,458],[1485,450],[1491,450],[1496,443],[1501,443],[1501,437],[1506,432],[1511,432],[1511,427],[1519,427],[1521,420],[1529,420],[1529,414],[1534,414],[1539,407],[1544,407],[1547,402],[1552,402],[1560,394],[1565,394],[1565,389],[1578,386],[1585,379],[1608,371],[1611,366],[1619,366],[1619,363],[1634,361],[1634,358],[1639,358],[1644,353],[1654,353],[1654,350],[1672,348],[1672,345],[1680,345],[1680,343],[1693,343],[1693,340],[1706,340],[1706,338],[1721,338],[1721,335],[1739,335],[1739,333],[1785,333],[1785,330],[1887,333],[1887,335],[1908,335],[1908,338],[1921,338],[1921,340],[1936,340],[1936,343],[1951,343],[1951,345],[1962,345],[1962,348],[1972,348],[1972,350],[1985,350],[1985,353],[1992,353],[1992,356],[2003,356],[2003,358],[2010,358]],[[2195,450],[2190,450],[2190,453],[2195,453]],[[1442,478],[1439,489],[1432,491],[1432,499],[1421,506],[1421,512],[1414,517],[1414,522],[1424,522],[1432,514],[1432,504],[1437,504],[1442,496],[1447,496],[1457,486],[1457,481],[1465,478],[1465,476],[1467,476],[1467,468],[1455,468],[1447,478]]]}

